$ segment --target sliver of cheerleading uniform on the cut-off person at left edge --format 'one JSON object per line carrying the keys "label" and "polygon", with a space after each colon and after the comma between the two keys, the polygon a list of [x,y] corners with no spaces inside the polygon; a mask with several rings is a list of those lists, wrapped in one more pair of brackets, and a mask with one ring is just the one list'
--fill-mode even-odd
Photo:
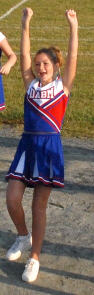
{"label": "sliver of cheerleading uniform on the cut-off person at left edge", "polygon": [[[5,38],[5,36],[0,32],[0,42]],[[1,49],[0,49],[0,58],[1,58]],[[2,75],[0,74],[0,111],[5,109],[5,100],[4,100],[4,91],[2,83]]]}

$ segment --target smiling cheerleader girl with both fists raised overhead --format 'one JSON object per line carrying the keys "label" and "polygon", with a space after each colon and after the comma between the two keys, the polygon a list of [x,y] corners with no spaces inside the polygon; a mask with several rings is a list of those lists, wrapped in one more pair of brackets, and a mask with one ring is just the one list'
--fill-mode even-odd
{"label": "smiling cheerleader girl with both fists raised overhead", "polygon": [[[76,12],[70,9],[66,11],[70,39],[63,77],[60,77],[59,70],[62,65],[61,52],[50,47],[36,53],[36,78],[30,57],[29,22],[32,15],[32,9],[23,10],[21,71],[26,89],[24,132],[6,175],[7,209],[18,231],[16,242],[7,252],[6,258],[10,261],[18,259],[32,244],[31,255],[22,275],[22,280],[26,282],[35,281],[39,272],[39,256],[51,188],[64,186],[60,129],[75,77],[78,48],[78,21]],[[26,186],[34,187],[32,237],[28,233],[21,204]]]}

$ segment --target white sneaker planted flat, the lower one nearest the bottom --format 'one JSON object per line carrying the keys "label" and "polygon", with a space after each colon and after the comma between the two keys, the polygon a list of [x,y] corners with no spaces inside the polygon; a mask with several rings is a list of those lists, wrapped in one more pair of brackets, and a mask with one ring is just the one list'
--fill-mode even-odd
{"label": "white sneaker planted flat, the lower one nearest the bottom", "polygon": [[39,267],[39,261],[29,258],[22,275],[22,280],[25,282],[34,282],[37,279]]}

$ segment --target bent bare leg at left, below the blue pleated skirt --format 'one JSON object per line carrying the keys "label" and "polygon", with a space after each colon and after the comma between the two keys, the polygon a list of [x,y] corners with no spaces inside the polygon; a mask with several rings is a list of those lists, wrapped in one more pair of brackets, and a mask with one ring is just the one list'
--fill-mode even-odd
{"label": "bent bare leg at left, below the blue pleated skirt", "polygon": [[9,215],[18,231],[19,236],[28,235],[22,198],[26,185],[19,180],[9,179],[6,193],[6,204]]}

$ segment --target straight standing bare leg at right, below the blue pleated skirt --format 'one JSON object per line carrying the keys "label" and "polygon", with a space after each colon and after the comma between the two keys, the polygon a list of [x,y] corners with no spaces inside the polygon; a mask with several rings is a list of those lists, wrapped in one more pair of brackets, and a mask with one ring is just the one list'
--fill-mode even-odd
{"label": "straight standing bare leg at right, below the blue pleated skirt", "polygon": [[37,185],[32,202],[32,252],[31,258],[39,260],[46,229],[46,208],[51,187]]}

